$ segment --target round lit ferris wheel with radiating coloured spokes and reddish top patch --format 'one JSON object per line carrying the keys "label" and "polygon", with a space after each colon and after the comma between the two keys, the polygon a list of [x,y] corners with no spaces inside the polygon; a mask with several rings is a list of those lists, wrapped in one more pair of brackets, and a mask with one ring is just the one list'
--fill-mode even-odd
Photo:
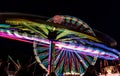
{"label": "round lit ferris wheel with radiating coloured spokes and reddish top patch", "polygon": [[[102,44],[98,44],[101,42],[95,38],[93,30],[82,20],[67,15],[56,15],[48,22],[60,24],[60,27],[66,28],[66,30],[62,30],[53,27],[52,32],[47,29],[49,40],[44,42],[48,42],[48,45],[35,46],[36,59],[48,70],[52,68],[51,70],[57,75],[82,74],[89,65],[95,64],[98,56],[104,57],[100,54],[105,52],[98,51],[97,48],[98,45],[101,45],[100,50],[102,50]],[[74,31],[68,31],[68,29]],[[113,40],[112,43],[114,44],[115,41]],[[49,67],[50,64],[51,67]]]}

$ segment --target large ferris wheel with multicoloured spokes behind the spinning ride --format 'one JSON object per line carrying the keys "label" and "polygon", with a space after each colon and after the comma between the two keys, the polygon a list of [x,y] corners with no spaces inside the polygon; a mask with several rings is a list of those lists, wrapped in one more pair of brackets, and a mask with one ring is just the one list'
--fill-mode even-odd
{"label": "large ferris wheel with multicoloured spokes behind the spinning ride", "polygon": [[[72,16],[56,15],[53,18],[50,18],[48,22],[53,22],[56,24],[60,24],[61,26],[66,26],[64,28],[67,29],[74,28],[75,30],[82,32],[81,34],[85,33],[91,36],[95,36],[93,30],[85,22]],[[50,41],[52,40],[52,43],[49,43],[48,40],[45,41],[48,42],[48,44],[36,43],[36,45],[34,46],[34,54],[36,56],[36,59],[40,64],[43,64],[43,68],[50,70],[49,65],[52,64],[52,67],[54,67],[54,71],[57,75],[63,73],[82,74],[89,65],[95,64],[97,57],[82,54],[82,52],[77,52],[73,48],[66,48],[67,46],[71,47],[71,44],[87,46],[87,43],[84,42],[84,34],[82,37],[79,37],[77,33],[72,33],[68,30],[56,30],[55,28],[53,28],[52,30],[54,32],[51,32],[51,30],[49,30],[47,27],[46,31],[49,31],[48,39],[50,39]],[[65,45],[61,44],[64,47],[57,46],[57,43],[64,43]],[[51,52],[50,49],[54,50],[54,52]],[[84,47],[83,49],[86,49],[86,47]],[[50,62],[49,56],[51,55],[51,53],[53,54],[53,56],[51,57],[52,61]]]}

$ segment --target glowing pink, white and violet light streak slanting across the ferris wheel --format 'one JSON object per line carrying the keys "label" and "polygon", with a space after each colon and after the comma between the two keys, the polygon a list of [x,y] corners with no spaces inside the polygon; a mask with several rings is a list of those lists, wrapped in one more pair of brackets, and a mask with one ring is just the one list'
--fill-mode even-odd
{"label": "glowing pink, white and violet light streak slanting across the ferris wheel", "polygon": [[[7,32],[0,31],[0,36],[8,39],[13,39],[13,40],[18,40],[22,42],[28,42],[28,43],[33,43],[34,41],[40,42],[40,43],[45,43],[45,44],[50,44],[50,40],[48,39],[42,39],[42,38],[35,38],[35,37],[28,37],[27,35],[20,35],[17,32],[11,33],[9,30]],[[71,52],[77,51],[86,55],[91,55],[91,56],[100,56],[100,57],[107,57],[107,58],[112,58],[112,59],[118,59],[118,56],[114,54],[109,54],[105,52],[101,52],[99,49],[93,50],[93,48],[86,48],[84,46],[76,46],[72,44],[66,44],[63,42],[58,42],[58,41],[53,41],[57,49],[66,49],[66,50],[71,50]],[[74,51],[73,51],[74,50]]]}

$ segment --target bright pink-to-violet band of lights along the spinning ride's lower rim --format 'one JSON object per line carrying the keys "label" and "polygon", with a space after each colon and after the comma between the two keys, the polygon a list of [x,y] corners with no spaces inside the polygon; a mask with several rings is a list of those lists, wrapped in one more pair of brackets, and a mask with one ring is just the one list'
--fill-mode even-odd
{"label": "bright pink-to-violet band of lights along the spinning ride's lower rim", "polygon": [[[14,39],[16,38],[22,38],[23,40],[27,41],[27,40],[32,40],[32,41],[38,41],[40,43],[45,43],[45,44],[50,44],[50,40],[47,40],[47,39],[41,39],[41,38],[35,38],[35,37],[28,37],[27,34],[25,35],[20,35],[18,34],[18,32],[10,32],[9,30],[7,30],[6,32],[3,30],[0,30],[1,33],[0,33],[0,36],[2,37],[12,37]],[[53,41],[53,43],[55,43],[55,46],[58,47],[61,47],[60,49],[69,49],[68,51],[71,50],[71,52],[74,52],[73,50],[76,50],[77,52],[82,52],[83,54],[87,54],[87,55],[91,55],[91,56],[98,56],[100,58],[105,58],[105,59],[110,59],[110,60],[113,60],[113,59],[118,59],[118,56],[115,55],[115,54],[112,54],[112,53],[105,53],[99,49],[95,49],[94,48],[91,48],[91,47],[84,47],[82,45],[79,45],[79,46],[76,46],[76,45],[72,45],[72,44],[66,44],[66,43],[62,43],[62,42],[58,42],[58,41]],[[94,44],[94,43],[92,43]],[[102,44],[99,44],[102,46]],[[109,50],[115,50],[115,49],[110,49],[108,48],[107,46],[103,45],[104,47],[106,47],[107,49]],[[117,51],[116,51],[117,52]],[[91,53],[91,54],[90,54]],[[119,53],[119,52],[117,52]],[[105,57],[104,57],[105,56]]]}

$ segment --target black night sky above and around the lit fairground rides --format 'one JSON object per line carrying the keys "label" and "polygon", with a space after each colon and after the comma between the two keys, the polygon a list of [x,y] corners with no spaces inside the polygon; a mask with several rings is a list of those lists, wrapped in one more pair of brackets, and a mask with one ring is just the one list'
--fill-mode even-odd
{"label": "black night sky above and around the lit fairground rides", "polygon": [[[56,14],[75,16],[86,22],[91,28],[114,38],[118,42],[114,48],[120,50],[119,4],[119,0],[3,0],[0,1],[0,12],[20,12],[47,17]],[[17,47],[19,54],[21,50],[25,49],[24,54],[21,55],[26,56],[28,50],[32,55],[31,44],[2,38],[0,42],[2,49],[16,50],[14,47]],[[24,45],[25,48],[21,45]]]}

